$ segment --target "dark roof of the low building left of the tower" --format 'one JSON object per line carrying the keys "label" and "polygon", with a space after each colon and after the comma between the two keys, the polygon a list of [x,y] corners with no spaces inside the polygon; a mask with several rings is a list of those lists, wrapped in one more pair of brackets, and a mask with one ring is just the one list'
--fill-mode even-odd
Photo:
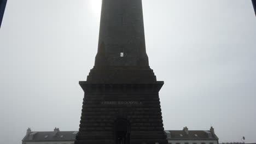
{"label": "dark roof of the low building left of the tower", "polygon": [[31,131],[22,141],[74,141],[78,131]]}

